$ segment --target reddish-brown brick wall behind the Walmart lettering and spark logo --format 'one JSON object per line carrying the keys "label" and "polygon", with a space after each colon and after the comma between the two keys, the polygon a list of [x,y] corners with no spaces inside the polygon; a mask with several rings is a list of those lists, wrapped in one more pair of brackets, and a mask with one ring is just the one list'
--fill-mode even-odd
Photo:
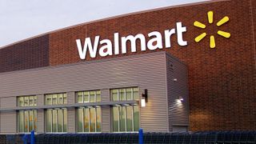
{"label": "reddish-brown brick wall behind the Walmart lettering and spark logo", "polygon": [[[190,130],[256,130],[256,70],[255,34],[256,2],[231,0],[202,2],[187,6],[174,6],[150,10],[98,22],[85,23],[49,34],[49,66],[81,62],[75,40],[82,42],[96,35],[113,42],[115,32],[120,36],[148,34],[157,30],[175,28],[182,22],[187,32],[183,34],[188,46],[178,46],[177,37],[171,38],[171,48],[162,50],[185,62],[189,68]],[[214,11],[214,23],[207,21],[207,12]],[[228,16],[223,26],[216,22]],[[206,29],[193,26],[194,21],[206,24]],[[218,30],[230,32],[230,38],[217,34]],[[206,38],[194,42],[194,38],[206,32]],[[216,48],[210,49],[210,35],[215,37]],[[147,39],[148,40],[148,39]],[[164,42],[164,39],[163,39]],[[141,52],[137,42],[137,53]],[[118,57],[116,55],[104,58]],[[101,59],[90,58],[86,61]]]}

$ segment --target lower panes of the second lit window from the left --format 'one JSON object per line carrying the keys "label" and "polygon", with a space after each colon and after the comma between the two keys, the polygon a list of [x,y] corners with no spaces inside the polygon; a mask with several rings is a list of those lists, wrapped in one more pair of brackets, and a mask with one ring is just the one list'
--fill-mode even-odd
{"label": "lower panes of the second lit window from the left", "polygon": [[46,132],[63,133],[66,132],[67,112],[66,108],[46,110]]}

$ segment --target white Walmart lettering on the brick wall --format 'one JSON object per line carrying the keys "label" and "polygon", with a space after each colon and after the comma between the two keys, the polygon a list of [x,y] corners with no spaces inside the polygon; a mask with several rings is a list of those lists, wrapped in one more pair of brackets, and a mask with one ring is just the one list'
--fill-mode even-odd
{"label": "white Walmart lettering on the brick wall", "polygon": [[[187,46],[187,42],[183,40],[183,33],[186,32],[186,26],[182,27],[182,22],[176,23],[176,30],[164,30],[164,39],[165,39],[165,47],[170,48],[170,39],[174,34],[177,34],[178,45],[179,46]],[[130,42],[130,51],[132,53],[137,51],[136,41],[140,42],[140,50],[145,51],[146,48],[149,50],[162,49],[162,34],[158,31],[153,31],[147,34],[147,37],[150,38],[148,42],[146,42],[146,38],[144,34],[136,34],[128,35],[126,37],[121,37],[121,50],[122,54],[127,53],[127,42]],[[86,53],[89,50],[89,54],[91,58],[96,58],[96,54],[101,57],[106,57],[107,55],[113,54],[113,44],[110,39],[102,39],[100,40],[100,36],[95,36],[94,44],[92,44],[90,38],[86,38],[84,45],[82,46],[82,42],[80,39],[76,40],[78,53],[81,59],[86,59]],[[100,48],[98,50],[98,42],[100,43]],[[114,54],[120,54],[119,52],[119,34],[114,33]]]}

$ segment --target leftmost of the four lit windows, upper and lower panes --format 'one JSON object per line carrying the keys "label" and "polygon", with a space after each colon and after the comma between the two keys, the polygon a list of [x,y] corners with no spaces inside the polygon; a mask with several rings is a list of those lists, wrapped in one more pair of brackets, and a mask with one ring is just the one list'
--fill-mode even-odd
{"label": "leftmost of the four lit windows, upper and lower panes", "polygon": [[[36,96],[22,96],[17,98],[17,106],[37,106]],[[18,110],[18,132],[29,133],[37,129],[37,110]]]}

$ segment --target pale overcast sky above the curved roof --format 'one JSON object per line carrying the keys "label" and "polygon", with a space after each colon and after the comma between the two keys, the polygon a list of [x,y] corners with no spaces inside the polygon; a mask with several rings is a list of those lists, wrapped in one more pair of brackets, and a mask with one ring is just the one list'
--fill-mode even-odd
{"label": "pale overcast sky above the curved roof", "polygon": [[0,47],[119,14],[206,0],[0,0]]}

